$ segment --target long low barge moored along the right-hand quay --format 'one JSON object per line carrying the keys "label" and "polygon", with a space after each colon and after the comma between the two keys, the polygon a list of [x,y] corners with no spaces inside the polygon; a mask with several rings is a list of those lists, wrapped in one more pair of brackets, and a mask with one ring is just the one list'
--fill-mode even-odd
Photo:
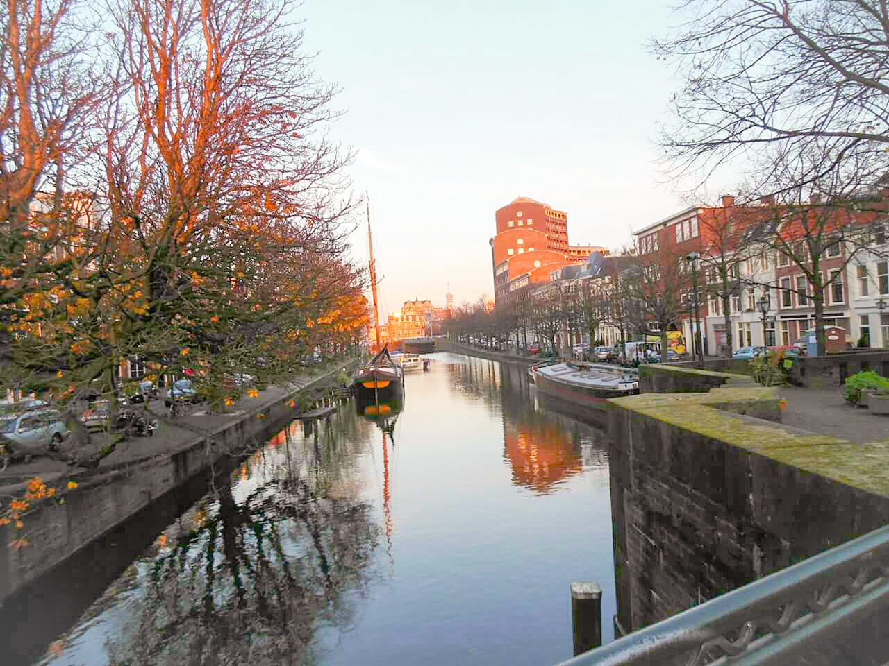
{"label": "long low barge moored along the right-hand quay", "polygon": [[539,392],[579,405],[601,407],[639,392],[638,372],[613,365],[558,361],[534,366],[533,376]]}

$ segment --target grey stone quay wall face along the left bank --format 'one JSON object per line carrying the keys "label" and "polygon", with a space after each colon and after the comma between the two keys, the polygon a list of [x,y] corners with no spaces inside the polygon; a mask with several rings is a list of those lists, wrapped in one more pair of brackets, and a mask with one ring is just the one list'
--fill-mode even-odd
{"label": "grey stone quay wall face along the left bank", "polygon": [[[236,421],[206,435],[196,435],[172,453],[78,472],[78,487],[64,493],[64,503],[41,501],[23,517],[27,546],[13,550],[11,542],[18,538],[17,531],[12,526],[0,527],[0,606],[28,583],[223,456],[238,456],[260,444],[270,426],[299,414],[296,399],[301,392],[329,382],[340,368],[292,391],[278,392],[273,400],[260,400]],[[288,404],[291,400],[297,402],[296,407]]]}

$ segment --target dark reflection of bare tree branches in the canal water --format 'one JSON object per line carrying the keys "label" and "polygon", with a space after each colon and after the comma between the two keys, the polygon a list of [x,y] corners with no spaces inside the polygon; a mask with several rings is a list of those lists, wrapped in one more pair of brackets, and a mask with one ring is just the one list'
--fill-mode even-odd
{"label": "dark reflection of bare tree branches in the canal water", "polygon": [[311,663],[318,623],[352,622],[349,599],[375,577],[379,527],[357,496],[355,440],[328,439],[324,427],[303,441],[292,429],[279,436],[254,461],[263,479],[233,492],[226,477],[178,535],[162,536],[140,571],[138,614],[108,646],[112,662]]}

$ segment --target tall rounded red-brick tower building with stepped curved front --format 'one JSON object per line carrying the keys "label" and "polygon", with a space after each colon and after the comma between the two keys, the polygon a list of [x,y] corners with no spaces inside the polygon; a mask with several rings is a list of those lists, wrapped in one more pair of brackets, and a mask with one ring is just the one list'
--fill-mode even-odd
{"label": "tall rounded red-brick tower building with stepped curved front", "polygon": [[[593,245],[568,243],[568,215],[520,196],[494,213],[497,233],[489,241],[494,279],[494,299],[508,301],[509,294],[529,284],[549,281],[550,274],[587,258]],[[607,252],[607,250],[605,250]]]}

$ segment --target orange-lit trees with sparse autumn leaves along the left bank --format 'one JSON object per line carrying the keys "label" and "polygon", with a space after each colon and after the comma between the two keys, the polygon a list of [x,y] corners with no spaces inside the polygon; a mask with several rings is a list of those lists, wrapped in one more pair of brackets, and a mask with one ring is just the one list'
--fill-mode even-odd
{"label": "orange-lit trees with sparse autumn leaves along the left bank", "polygon": [[224,400],[356,344],[352,155],[295,9],[4,4],[0,394],[73,409],[138,358]]}

